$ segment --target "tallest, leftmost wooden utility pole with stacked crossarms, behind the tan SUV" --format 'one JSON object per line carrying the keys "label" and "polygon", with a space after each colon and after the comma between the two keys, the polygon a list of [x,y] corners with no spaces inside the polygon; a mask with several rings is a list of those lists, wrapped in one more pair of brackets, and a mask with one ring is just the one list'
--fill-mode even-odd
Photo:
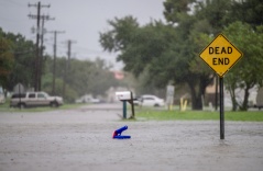
{"label": "tallest, leftmost wooden utility pole with stacked crossarms, behind the tan SUV", "polygon": [[[42,49],[40,50],[40,39],[41,39],[41,20],[43,20],[42,24],[42,34],[44,34],[44,20],[52,20],[50,15],[41,15],[41,8],[50,8],[51,5],[42,5],[41,2],[37,4],[31,4],[29,3],[29,7],[35,7],[37,8],[37,13],[36,15],[29,14],[29,18],[31,19],[36,19],[36,43],[35,43],[35,72],[34,72],[34,90],[40,91],[41,90],[41,75],[42,75]],[[42,41],[43,41],[43,35],[42,35]]]}

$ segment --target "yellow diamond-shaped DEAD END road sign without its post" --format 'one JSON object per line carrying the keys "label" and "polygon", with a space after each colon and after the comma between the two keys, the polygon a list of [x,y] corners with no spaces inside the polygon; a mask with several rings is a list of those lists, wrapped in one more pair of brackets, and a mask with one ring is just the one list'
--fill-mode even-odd
{"label": "yellow diamond-shaped DEAD END road sign without its post", "polygon": [[242,53],[227,37],[219,34],[201,53],[200,57],[220,77],[242,57]]}

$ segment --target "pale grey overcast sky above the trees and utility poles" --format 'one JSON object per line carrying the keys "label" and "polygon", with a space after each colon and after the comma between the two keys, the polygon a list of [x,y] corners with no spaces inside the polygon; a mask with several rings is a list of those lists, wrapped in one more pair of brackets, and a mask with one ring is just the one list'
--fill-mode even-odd
{"label": "pale grey overcast sky above the trees and utility poles", "polygon": [[[41,0],[41,4],[51,4],[42,8],[41,13],[55,18],[46,21],[47,31],[65,31],[57,36],[57,56],[66,56],[66,41],[76,43],[72,46],[72,56],[79,59],[94,60],[100,57],[121,69],[121,64],[116,64],[116,55],[102,50],[99,44],[99,32],[110,27],[107,20],[114,16],[132,15],[143,25],[151,20],[164,20],[163,2],[165,0]],[[31,27],[36,27],[36,20],[29,19],[28,14],[36,14],[36,4],[33,0],[0,0],[0,27],[4,32],[20,33],[35,42],[35,34]],[[45,35],[46,52],[53,55],[53,34]]]}

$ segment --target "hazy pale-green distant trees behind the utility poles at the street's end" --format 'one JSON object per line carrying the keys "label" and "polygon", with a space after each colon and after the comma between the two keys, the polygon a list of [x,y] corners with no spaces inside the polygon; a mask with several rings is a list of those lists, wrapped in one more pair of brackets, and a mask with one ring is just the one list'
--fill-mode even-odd
{"label": "hazy pale-green distant trees behind the utility poles at the street's end", "polygon": [[[66,86],[65,101],[74,102],[84,94],[105,95],[110,87],[117,87],[119,81],[114,79],[110,71],[111,67],[105,60],[97,58],[95,61],[72,59],[70,67],[65,80],[65,68],[67,59],[57,58],[56,88],[57,95],[63,95],[63,84]],[[53,83],[53,59],[47,57],[45,73],[43,77],[43,90],[51,93]]]}

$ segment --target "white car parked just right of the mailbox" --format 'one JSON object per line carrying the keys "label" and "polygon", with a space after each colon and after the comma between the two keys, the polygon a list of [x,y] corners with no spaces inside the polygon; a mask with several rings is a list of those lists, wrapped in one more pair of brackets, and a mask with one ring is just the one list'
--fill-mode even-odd
{"label": "white car parked just right of the mailbox", "polygon": [[151,94],[144,94],[138,99],[133,100],[133,104],[134,105],[141,105],[141,106],[164,106],[164,100],[155,96],[155,95],[151,95]]}

